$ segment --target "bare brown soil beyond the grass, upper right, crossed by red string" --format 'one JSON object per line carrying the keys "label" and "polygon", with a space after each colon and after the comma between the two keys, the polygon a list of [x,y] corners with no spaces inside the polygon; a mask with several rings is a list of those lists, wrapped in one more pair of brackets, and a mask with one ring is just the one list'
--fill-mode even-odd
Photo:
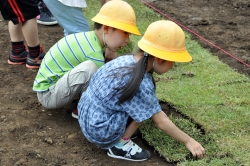
{"label": "bare brown soil beyond the grass, upper right, crossed by red string", "polygon": [[[250,76],[249,0],[142,1],[149,4],[154,10],[163,13],[166,19],[173,19],[183,25],[183,30],[188,31],[185,29],[188,28],[195,32],[197,35],[193,35],[193,38],[204,48],[209,49],[236,71]],[[247,65],[243,65],[236,59]]]}

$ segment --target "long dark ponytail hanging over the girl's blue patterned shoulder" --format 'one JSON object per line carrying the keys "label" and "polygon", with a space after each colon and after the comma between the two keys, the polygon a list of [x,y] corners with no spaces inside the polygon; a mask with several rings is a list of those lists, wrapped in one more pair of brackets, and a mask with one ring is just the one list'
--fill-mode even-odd
{"label": "long dark ponytail hanging over the girl's blue patterned shoulder", "polygon": [[[143,53],[141,49],[138,49],[138,53]],[[143,56],[134,66],[127,67],[128,70],[124,75],[130,74],[130,80],[123,87],[119,88],[121,90],[121,96],[118,99],[117,104],[121,104],[125,101],[130,101],[135,96],[139,89],[141,81],[143,80],[144,74],[147,69],[148,56]],[[152,77],[153,78],[153,77]],[[154,80],[153,80],[154,83]],[[155,83],[154,83],[155,85]]]}

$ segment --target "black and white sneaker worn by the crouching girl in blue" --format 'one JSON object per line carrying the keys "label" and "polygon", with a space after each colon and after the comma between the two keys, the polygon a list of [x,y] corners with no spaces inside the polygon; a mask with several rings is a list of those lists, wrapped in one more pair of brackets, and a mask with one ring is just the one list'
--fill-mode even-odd
{"label": "black and white sneaker worn by the crouching girl in blue", "polygon": [[131,140],[121,148],[113,146],[108,150],[107,154],[109,157],[130,161],[144,161],[150,157],[149,151],[140,148]]}

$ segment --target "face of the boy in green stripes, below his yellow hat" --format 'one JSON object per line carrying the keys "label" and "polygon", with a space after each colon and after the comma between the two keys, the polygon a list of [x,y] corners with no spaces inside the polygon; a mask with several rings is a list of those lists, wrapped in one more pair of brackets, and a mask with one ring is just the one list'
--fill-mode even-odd
{"label": "face of the boy in green stripes, below his yellow hat", "polygon": [[105,34],[105,42],[112,51],[118,51],[121,47],[127,45],[129,41],[129,33],[119,29],[109,27]]}

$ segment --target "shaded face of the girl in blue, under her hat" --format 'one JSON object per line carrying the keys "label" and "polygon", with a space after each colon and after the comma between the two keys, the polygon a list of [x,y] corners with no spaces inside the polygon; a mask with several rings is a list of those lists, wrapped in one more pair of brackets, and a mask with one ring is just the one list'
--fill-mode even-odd
{"label": "shaded face of the girl in blue, under her hat", "polygon": [[163,74],[170,70],[173,67],[173,64],[174,62],[155,58],[155,64],[153,68],[157,74]]}

